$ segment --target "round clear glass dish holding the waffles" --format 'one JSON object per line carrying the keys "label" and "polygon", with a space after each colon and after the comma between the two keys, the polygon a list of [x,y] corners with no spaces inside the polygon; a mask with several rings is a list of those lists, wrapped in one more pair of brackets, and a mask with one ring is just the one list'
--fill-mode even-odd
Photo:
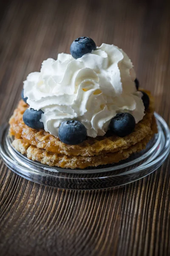
{"label": "round clear glass dish holding the waffles", "polygon": [[29,160],[11,145],[8,125],[0,127],[0,156],[6,166],[18,175],[46,186],[60,189],[106,189],[139,180],[154,172],[170,153],[170,130],[164,119],[155,113],[158,134],[147,147],[119,163],[86,169],[50,167]]}

